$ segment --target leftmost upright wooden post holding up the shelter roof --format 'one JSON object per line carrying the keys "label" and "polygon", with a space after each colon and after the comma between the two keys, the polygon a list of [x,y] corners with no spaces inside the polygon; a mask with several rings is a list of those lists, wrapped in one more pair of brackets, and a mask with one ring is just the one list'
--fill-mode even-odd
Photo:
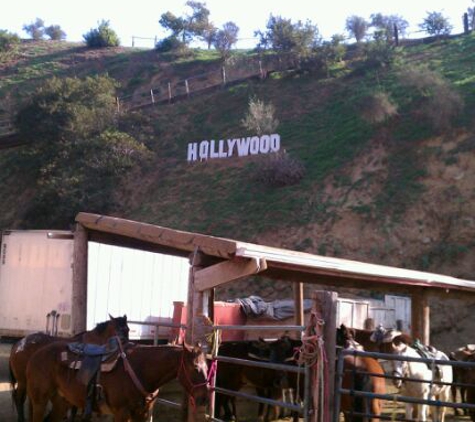
{"label": "leftmost upright wooden post holding up the shelter roof", "polygon": [[87,319],[87,232],[81,224],[74,232],[72,333],[86,330]]}

